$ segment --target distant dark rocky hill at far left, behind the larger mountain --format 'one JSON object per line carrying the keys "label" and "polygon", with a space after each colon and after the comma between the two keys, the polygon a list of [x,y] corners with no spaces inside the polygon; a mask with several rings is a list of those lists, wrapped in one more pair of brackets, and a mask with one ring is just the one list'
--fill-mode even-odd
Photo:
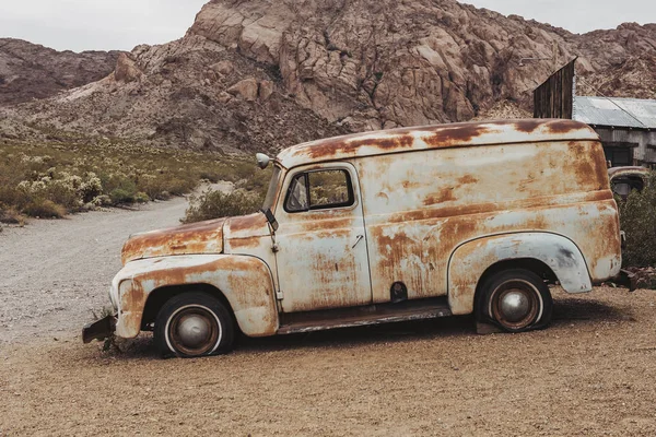
{"label": "distant dark rocky hill at far left, behind the larger mountain", "polygon": [[0,38],[0,106],[50,97],[95,82],[116,67],[118,51],[57,51]]}

